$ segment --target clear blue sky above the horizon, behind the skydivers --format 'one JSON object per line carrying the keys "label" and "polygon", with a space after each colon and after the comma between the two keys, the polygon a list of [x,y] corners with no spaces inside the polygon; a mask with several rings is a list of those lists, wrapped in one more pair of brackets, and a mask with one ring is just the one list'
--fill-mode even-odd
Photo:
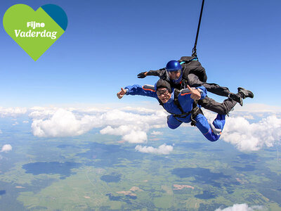
{"label": "clear blue sky above the horizon, behind the skydivers", "polygon": [[[201,1],[1,1],[0,15],[14,4],[35,10],[57,4],[67,14],[65,34],[37,61],[1,23],[1,107],[119,103],[129,84],[154,84],[138,72],[163,68],[190,56]],[[251,89],[245,103],[281,106],[281,1],[206,1],[197,53],[208,82]],[[221,101],[214,95],[211,97]],[[128,97],[124,103],[147,101]]]}

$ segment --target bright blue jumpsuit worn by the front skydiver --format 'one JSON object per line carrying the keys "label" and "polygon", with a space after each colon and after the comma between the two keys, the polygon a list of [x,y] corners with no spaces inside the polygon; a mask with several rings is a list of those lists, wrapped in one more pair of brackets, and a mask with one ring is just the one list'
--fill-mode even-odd
{"label": "bright blue jumpsuit worn by the front skydiver", "polygon": [[[197,89],[201,89],[201,99],[203,99],[207,95],[207,90],[205,87],[197,87]],[[159,100],[155,89],[153,88],[147,88],[147,87],[141,87],[138,84],[135,84],[133,86],[125,87],[126,89],[126,95],[142,95],[142,96],[150,96],[153,98],[157,98]],[[187,91],[188,89],[181,90],[181,94],[178,95],[178,102],[181,105],[181,108],[183,108],[183,111],[185,113],[190,112],[192,110],[192,103],[193,99],[190,98],[190,91]],[[174,91],[171,93],[171,98],[168,102],[163,104],[164,109],[172,114],[181,115],[181,110],[176,106],[174,103]],[[169,128],[176,129],[179,127],[183,122],[188,123],[191,122],[191,115],[188,115],[186,117],[174,117],[173,115],[168,116],[167,124]],[[214,120],[213,124],[216,129],[223,130],[223,126],[226,122],[225,120],[226,115],[217,115],[216,119]],[[209,140],[209,141],[216,141],[221,136],[220,134],[215,134],[207,121],[207,118],[204,117],[204,115],[199,114],[197,117],[195,117],[196,127],[202,132],[202,134]]]}

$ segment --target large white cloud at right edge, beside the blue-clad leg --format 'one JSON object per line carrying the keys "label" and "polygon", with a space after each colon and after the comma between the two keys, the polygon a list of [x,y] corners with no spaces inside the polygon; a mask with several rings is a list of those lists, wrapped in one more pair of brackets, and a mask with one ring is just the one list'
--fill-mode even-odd
{"label": "large white cloud at right edge, beside the blue-clad leg", "polygon": [[272,115],[250,124],[244,117],[228,117],[221,139],[232,143],[240,151],[271,147],[281,139],[281,118]]}

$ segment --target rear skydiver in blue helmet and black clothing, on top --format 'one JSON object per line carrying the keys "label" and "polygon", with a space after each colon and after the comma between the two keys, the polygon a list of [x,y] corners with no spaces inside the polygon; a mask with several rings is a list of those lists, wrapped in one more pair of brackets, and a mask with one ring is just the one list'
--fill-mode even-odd
{"label": "rear skydiver in blue helmet and black clothing, on top", "polygon": [[138,74],[138,78],[144,78],[147,75],[159,76],[161,79],[168,81],[171,87],[176,89],[185,89],[187,85],[190,87],[202,86],[211,93],[228,97],[223,103],[218,103],[208,96],[198,101],[198,104],[203,108],[221,115],[227,115],[237,102],[242,106],[242,99],[254,97],[251,91],[242,87],[239,87],[238,93],[234,94],[230,92],[227,87],[220,87],[218,84],[207,83],[205,69],[202,67],[197,57],[194,56],[183,56],[178,61],[171,60],[166,64],[166,68],[141,72]]}

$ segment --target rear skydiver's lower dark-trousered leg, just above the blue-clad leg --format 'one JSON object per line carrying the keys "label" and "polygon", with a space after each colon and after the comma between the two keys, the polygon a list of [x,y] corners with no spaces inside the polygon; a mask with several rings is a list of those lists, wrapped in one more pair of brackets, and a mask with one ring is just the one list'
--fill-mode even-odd
{"label": "rear skydiver's lower dark-trousered leg, just above the blue-clad leg", "polygon": [[218,103],[214,99],[206,96],[204,99],[198,101],[198,104],[207,110],[211,110],[221,115],[227,115],[231,109],[236,105],[236,101],[227,98],[223,103]]}

